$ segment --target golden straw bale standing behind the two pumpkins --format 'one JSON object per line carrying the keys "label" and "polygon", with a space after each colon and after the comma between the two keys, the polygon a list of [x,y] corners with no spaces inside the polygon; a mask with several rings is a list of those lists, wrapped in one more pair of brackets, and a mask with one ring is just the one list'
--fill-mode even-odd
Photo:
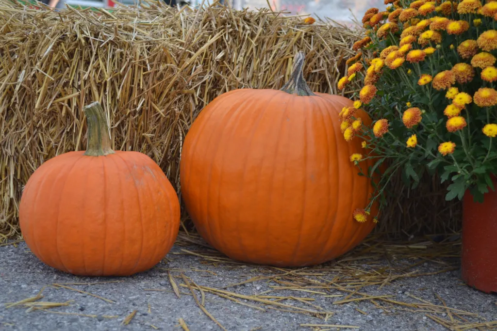
{"label": "golden straw bale standing behind the two pumpkins", "polygon": [[33,171],[85,148],[84,105],[102,104],[114,149],[149,155],[178,188],[182,140],[207,103],[236,88],[280,88],[298,50],[311,88],[336,93],[355,39],[344,27],[268,10],[147,1],[55,12],[3,1],[0,237],[20,235],[19,199]]}

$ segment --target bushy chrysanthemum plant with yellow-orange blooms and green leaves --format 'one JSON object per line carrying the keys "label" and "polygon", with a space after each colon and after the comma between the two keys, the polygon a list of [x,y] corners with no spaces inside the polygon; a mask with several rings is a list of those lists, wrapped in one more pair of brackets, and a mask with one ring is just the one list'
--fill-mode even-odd
{"label": "bushy chrysanthemum plant with yellow-orange blooms and green leaves", "polygon": [[[354,107],[339,115],[344,138],[363,140],[364,153],[350,160],[370,178],[382,170],[369,206],[354,215],[369,216],[374,201],[381,210],[397,171],[411,188],[424,171],[438,172],[450,182],[447,200],[469,190],[482,201],[497,172],[497,1],[385,4],[386,11],[365,13],[366,37],[354,44],[359,53],[338,82],[339,89],[357,79],[363,86]],[[372,127],[354,117],[357,108],[368,112]],[[363,169],[366,159],[377,162]]]}

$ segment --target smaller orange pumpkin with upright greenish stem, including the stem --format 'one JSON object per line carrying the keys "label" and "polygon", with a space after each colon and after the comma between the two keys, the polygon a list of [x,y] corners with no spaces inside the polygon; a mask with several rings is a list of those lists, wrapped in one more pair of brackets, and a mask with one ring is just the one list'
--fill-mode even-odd
{"label": "smaller orange pumpkin with upright greenish stem, including the stem", "polygon": [[156,265],[179,230],[179,202],[161,168],[113,151],[102,107],[84,108],[86,151],[43,163],[19,206],[22,234],[44,263],[77,275],[130,275]]}

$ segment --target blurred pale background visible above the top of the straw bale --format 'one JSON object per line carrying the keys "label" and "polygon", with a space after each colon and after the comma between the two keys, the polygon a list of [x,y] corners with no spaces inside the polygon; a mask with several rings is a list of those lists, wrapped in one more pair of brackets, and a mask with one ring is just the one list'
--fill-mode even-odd
{"label": "blurred pale background visible above the top of the straw bale", "polygon": [[[135,4],[136,0],[43,0],[43,2],[62,8],[67,3],[71,6],[109,7],[113,2]],[[172,6],[198,6],[202,0],[164,0]],[[361,19],[364,12],[371,7],[385,8],[384,0],[222,0],[230,1],[236,9],[256,9],[271,7],[274,11],[284,11],[285,15],[310,14],[315,18],[330,18],[341,24],[350,24],[355,16]],[[204,3],[212,3],[206,0]]]}

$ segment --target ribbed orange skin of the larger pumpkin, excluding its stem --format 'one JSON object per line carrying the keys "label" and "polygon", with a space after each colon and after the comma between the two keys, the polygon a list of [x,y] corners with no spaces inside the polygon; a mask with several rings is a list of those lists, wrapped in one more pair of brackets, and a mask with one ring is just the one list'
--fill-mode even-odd
{"label": "ribbed orange skin of the larger pumpkin, excluding its stem", "polygon": [[360,138],[346,142],[340,131],[338,113],[352,101],[316,94],[234,90],[213,100],[186,135],[182,198],[200,235],[230,258],[316,265],[373,229],[371,219],[352,218],[373,192],[349,160],[365,153]]}

